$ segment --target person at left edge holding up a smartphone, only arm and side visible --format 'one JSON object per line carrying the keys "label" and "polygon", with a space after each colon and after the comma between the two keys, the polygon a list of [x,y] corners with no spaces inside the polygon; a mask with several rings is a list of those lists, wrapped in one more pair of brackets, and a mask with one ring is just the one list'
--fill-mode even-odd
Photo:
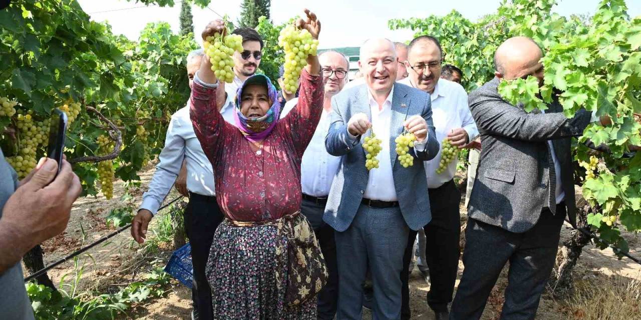
{"label": "person at left edge holding up a smartphone, only arm and side visible", "polygon": [[[57,176],[56,176],[57,173]],[[21,181],[0,149],[0,319],[34,319],[20,260],[67,228],[82,187],[71,164],[42,158]]]}

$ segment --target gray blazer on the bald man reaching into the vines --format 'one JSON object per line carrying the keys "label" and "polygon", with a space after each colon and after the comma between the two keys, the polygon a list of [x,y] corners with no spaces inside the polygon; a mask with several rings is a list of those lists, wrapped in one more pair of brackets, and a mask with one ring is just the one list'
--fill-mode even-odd
{"label": "gray blazer on the bald man reaching into the vines", "polygon": [[542,209],[549,206],[547,140],[552,140],[561,166],[567,215],[576,225],[570,137],[583,134],[591,113],[581,109],[574,118],[566,118],[556,99],[545,114],[526,113],[522,105],[504,101],[498,85],[499,79],[494,78],[469,95],[483,144],[469,216],[511,232],[532,228]]}

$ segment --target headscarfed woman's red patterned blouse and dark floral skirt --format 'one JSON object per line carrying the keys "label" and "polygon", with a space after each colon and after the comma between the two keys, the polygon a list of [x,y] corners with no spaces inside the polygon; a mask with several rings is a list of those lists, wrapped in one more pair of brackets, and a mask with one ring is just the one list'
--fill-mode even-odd
{"label": "headscarfed woman's red patterned blouse and dark floral skirt", "polygon": [[[281,289],[287,242],[269,223],[235,227],[234,221],[277,220],[301,206],[301,158],[322,113],[322,77],[301,74],[296,109],[279,120],[254,151],[215,106],[215,89],[194,82],[190,116],[215,177],[227,220],[217,228],[207,264],[215,319],[316,319],[316,299],[289,307]],[[286,246],[286,244],[285,244]]]}

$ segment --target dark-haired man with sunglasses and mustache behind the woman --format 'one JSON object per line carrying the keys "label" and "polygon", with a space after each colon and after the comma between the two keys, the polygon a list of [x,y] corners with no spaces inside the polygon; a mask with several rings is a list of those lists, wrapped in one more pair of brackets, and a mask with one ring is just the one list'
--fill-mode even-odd
{"label": "dark-haired man with sunglasses and mustache behind the woman", "polygon": [[260,60],[263,58],[263,39],[252,28],[238,28],[232,35],[242,36],[242,52],[234,52],[234,81],[225,85],[225,92],[231,97],[236,96],[236,90],[248,77],[256,74]]}

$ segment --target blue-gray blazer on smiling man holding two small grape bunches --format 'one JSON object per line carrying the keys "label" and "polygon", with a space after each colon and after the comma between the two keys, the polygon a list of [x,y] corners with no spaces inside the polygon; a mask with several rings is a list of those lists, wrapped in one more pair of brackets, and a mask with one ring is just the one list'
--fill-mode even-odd
{"label": "blue-gray blazer on smiling man holding two small grape bunches", "polygon": [[[367,86],[361,84],[344,90],[332,98],[331,106],[331,127],[325,138],[325,147],[329,154],[341,156],[341,161],[329,190],[323,220],[335,230],[342,232],[351,225],[369,178],[369,172],[365,168],[365,152],[360,143],[361,137],[353,139],[347,133],[347,122],[352,115],[365,113],[371,119]],[[403,132],[406,112],[408,117],[421,115],[428,122],[426,148],[423,152],[416,152],[415,157],[422,161],[432,159],[440,147],[432,123],[429,94],[395,83],[390,124],[392,175],[403,218],[412,230],[419,230],[431,220],[425,168],[422,161],[414,161],[413,166],[403,168],[397,160],[394,143],[394,139]],[[368,131],[366,136],[370,132]],[[414,154],[414,151],[410,150],[410,154]]]}

